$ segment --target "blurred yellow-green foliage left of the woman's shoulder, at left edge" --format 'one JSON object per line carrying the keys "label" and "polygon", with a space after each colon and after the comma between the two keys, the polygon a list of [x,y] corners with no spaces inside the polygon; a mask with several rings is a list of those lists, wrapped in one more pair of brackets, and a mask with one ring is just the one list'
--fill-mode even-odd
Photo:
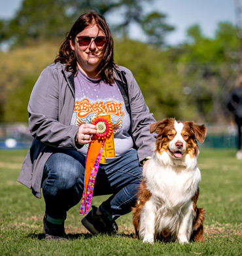
{"label": "blurred yellow-green foliage left of the woman's shoulder, at left edge", "polygon": [[58,52],[54,42],[37,43],[0,52],[0,122],[27,122],[33,85]]}

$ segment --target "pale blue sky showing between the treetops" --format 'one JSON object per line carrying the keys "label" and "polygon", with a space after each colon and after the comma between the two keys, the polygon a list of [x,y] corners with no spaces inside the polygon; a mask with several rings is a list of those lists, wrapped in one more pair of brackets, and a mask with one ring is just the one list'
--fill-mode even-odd
{"label": "pale blue sky showing between the treetops", "polygon": [[[154,0],[150,9],[167,14],[167,23],[175,26],[175,32],[167,37],[172,44],[181,43],[186,37],[186,29],[199,24],[204,35],[214,35],[218,22],[235,24],[235,0]],[[22,0],[0,0],[0,18],[10,18],[20,7]],[[242,5],[242,3],[241,3]],[[115,16],[116,18],[117,16]],[[139,38],[141,31],[136,26],[130,31],[133,38]]]}

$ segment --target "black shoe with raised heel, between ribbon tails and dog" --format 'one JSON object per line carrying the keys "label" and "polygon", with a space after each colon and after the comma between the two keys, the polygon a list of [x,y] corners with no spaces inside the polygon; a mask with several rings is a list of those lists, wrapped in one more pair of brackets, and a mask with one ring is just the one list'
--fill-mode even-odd
{"label": "black shoe with raised heel, between ribbon tails and dog", "polygon": [[92,211],[82,219],[83,226],[93,235],[108,234],[116,236],[118,225],[115,221],[109,221],[105,215],[96,215],[97,207],[92,206]]}

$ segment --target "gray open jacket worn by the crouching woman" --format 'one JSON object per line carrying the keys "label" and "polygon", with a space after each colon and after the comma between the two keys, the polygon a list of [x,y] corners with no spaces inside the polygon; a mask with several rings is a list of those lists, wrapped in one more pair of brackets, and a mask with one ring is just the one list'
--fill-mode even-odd
{"label": "gray open jacket worn by the crouching woman", "polygon": [[[149,133],[150,123],[156,120],[150,114],[135,78],[127,68],[118,66],[126,73],[131,108],[131,133],[137,148],[139,161],[152,155],[154,135]],[[33,142],[22,165],[18,181],[31,188],[41,198],[44,163],[60,148],[77,150],[75,135],[78,126],[70,125],[75,104],[72,73],[65,64],[57,62],[47,66],[33,87],[27,110],[29,130]],[[114,78],[120,81],[114,72]]]}

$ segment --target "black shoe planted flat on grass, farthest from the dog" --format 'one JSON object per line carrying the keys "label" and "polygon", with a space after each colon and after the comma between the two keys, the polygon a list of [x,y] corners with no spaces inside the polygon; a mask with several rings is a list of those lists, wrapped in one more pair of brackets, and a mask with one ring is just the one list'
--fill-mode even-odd
{"label": "black shoe planted flat on grass, farthest from the dog", "polygon": [[45,240],[67,240],[64,224],[53,224],[43,219]]}

